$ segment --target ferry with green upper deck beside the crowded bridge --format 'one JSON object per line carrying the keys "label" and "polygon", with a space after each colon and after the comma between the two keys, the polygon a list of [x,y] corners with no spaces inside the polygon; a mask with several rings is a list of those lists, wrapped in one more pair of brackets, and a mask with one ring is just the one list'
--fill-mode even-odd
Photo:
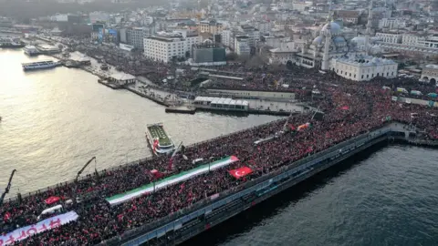
{"label": "ferry with green upper deck beside the crowded bridge", "polygon": [[164,130],[162,123],[147,125],[146,139],[152,149],[153,154],[171,154],[175,149],[172,138]]}

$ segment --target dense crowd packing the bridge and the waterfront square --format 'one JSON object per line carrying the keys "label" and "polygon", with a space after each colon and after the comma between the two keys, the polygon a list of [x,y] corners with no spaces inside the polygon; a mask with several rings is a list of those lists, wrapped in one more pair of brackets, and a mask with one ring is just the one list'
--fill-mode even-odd
{"label": "dense crowd packing the bridge and the waterfront square", "polygon": [[[241,73],[241,76],[243,73],[241,65],[220,69]],[[315,118],[313,113],[301,114],[187,147],[173,159],[172,170],[168,170],[170,157],[160,156],[117,170],[103,170],[99,175],[88,175],[88,179],[79,180],[78,184],[59,184],[56,188],[25,196],[21,202],[6,202],[0,208],[0,215],[4,218],[1,222],[3,233],[35,224],[45,218],[39,217],[42,210],[62,204],[63,210],[58,212],[74,210],[79,215],[77,221],[17,241],[16,245],[96,244],[159,220],[204,198],[233,189],[247,180],[290,165],[297,159],[381,128],[389,120],[416,126],[424,131],[425,138],[438,139],[437,109],[394,101],[391,99],[394,92],[382,88],[416,88],[414,84],[400,79],[377,78],[367,83],[358,83],[330,73],[309,73],[294,67],[276,73],[269,73],[266,67],[258,67],[246,70],[245,74],[245,82],[216,81],[214,87],[242,88],[245,85],[245,88],[253,89],[294,91],[309,101],[312,107],[324,112],[323,118]],[[164,72],[157,77],[163,75]],[[280,80],[289,87],[278,88],[276,83]],[[422,86],[421,89],[433,91],[434,87]],[[315,95],[315,90],[318,90],[318,95]],[[298,126],[306,123],[310,127],[297,131]],[[271,136],[276,138],[255,145],[256,140]],[[239,161],[183,183],[113,207],[105,200],[155,181],[152,169],[168,177],[231,155]],[[203,160],[193,162],[194,159]],[[235,179],[226,171],[244,165],[255,170],[246,179]],[[80,202],[67,204],[65,201],[74,194]],[[44,200],[51,196],[62,199],[47,205]]]}

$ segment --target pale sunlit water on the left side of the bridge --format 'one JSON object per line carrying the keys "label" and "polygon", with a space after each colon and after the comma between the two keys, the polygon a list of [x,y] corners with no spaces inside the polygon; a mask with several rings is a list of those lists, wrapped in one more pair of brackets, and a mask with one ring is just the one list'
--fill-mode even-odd
{"label": "pale sunlit water on the left side of the bridge", "polygon": [[98,169],[150,156],[146,124],[163,122],[175,142],[188,145],[276,119],[166,114],[79,69],[23,72],[21,63],[44,59],[52,58],[0,50],[0,189],[17,169],[11,195],[73,179],[93,156]]}

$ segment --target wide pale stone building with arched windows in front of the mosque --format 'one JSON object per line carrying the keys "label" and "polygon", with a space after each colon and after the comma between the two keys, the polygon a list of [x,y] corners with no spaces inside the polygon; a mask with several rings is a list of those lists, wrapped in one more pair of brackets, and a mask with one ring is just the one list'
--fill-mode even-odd
{"label": "wide pale stone building with arched windows in front of the mosque", "polygon": [[373,56],[339,57],[330,61],[330,70],[340,77],[355,81],[370,80],[373,77],[397,77],[397,68],[396,62]]}

